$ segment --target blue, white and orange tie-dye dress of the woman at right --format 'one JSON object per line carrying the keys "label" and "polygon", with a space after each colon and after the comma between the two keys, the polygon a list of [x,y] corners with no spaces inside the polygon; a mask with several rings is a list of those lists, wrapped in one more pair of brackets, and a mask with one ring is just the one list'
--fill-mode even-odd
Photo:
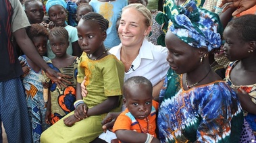
{"label": "blue, white and orange tie-dye dress of the woman at right", "polygon": [[184,91],[181,77],[170,69],[159,96],[161,142],[238,142],[243,117],[236,93],[224,81]]}

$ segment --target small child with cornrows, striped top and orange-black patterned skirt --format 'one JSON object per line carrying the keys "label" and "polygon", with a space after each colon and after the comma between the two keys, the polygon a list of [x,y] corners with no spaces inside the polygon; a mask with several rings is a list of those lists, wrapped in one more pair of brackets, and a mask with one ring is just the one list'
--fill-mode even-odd
{"label": "small child with cornrows, striped top and orange-black patterned skirt", "polygon": [[55,54],[55,58],[52,59],[53,69],[59,73],[69,75],[72,79],[68,79],[71,82],[68,87],[61,89],[53,83],[50,87],[51,94],[49,95],[47,102],[47,124],[55,124],[63,116],[67,115],[71,111],[74,111],[74,102],[76,101],[76,76],[78,73],[79,58],[67,54],[68,49],[68,31],[63,27],[55,27],[49,32],[49,42],[51,50]]}

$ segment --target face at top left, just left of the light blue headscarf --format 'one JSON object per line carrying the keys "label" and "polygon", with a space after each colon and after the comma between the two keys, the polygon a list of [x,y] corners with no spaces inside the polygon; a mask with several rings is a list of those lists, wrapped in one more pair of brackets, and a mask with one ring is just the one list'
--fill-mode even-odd
{"label": "face at top left, just left of the light blue headscarf", "polygon": [[32,1],[26,7],[26,15],[30,23],[41,23],[43,21],[43,4],[41,1]]}

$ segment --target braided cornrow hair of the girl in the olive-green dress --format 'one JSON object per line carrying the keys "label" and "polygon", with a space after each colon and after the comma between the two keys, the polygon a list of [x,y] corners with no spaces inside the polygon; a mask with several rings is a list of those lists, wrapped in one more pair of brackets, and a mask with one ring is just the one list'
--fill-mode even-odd
{"label": "braided cornrow hair of the girl in the olive-green dress", "polygon": [[86,13],[86,15],[83,15],[81,19],[84,21],[89,19],[97,21],[102,31],[107,31],[107,28],[109,28],[109,21],[99,13],[89,12]]}

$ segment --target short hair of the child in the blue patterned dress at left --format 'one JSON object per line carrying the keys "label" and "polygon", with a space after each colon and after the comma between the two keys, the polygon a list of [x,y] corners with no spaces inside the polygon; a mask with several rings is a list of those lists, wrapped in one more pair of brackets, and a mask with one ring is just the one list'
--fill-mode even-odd
{"label": "short hair of the child in the blue patterned dress at left", "polygon": [[34,37],[38,37],[38,36],[45,36],[48,38],[48,36],[49,36],[49,32],[48,32],[47,28],[45,28],[44,26],[42,26],[39,23],[32,24],[29,28],[27,28],[26,32],[30,39],[32,39]]}

